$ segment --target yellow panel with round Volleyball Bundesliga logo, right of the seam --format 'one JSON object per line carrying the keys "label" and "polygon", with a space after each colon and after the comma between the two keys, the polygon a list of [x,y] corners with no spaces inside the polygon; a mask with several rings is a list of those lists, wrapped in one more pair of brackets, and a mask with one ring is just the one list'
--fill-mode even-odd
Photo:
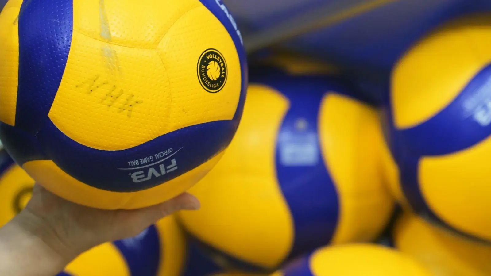
{"label": "yellow panel with round Volleyball Bundesliga logo, right of the seam", "polygon": [[[234,117],[240,96],[237,91],[246,81],[241,71],[247,68],[241,68],[234,41],[210,11],[198,7],[183,15],[169,28],[157,51],[165,68],[174,68],[167,72],[172,87],[169,119],[173,129]],[[215,81],[207,79],[204,68],[209,73],[212,62],[219,65],[222,74]],[[189,76],[196,74],[200,82],[190,82]]]}

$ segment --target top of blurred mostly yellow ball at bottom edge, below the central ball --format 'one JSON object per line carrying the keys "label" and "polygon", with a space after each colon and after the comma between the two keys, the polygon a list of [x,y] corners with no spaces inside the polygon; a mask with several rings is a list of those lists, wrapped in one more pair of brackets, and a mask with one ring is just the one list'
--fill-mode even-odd
{"label": "top of blurred mostly yellow ball at bottom edge, below the central ball", "polygon": [[272,276],[431,276],[419,262],[394,249],[354,244],[321,248]]}

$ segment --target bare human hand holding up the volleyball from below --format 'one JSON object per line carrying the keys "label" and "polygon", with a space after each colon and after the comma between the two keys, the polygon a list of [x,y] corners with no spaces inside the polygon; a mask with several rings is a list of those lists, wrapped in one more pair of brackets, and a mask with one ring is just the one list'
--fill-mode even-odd
{"label": "bare human hand holding up the volleyball from below", "polygon": [[[0,261],[0,272],[5,266],[13,269],[8,270],[9,274],[0,274],[55,275],[90,248],[136,236],[176,211],[198,208],[199,201],[191,194],[183,193],[144,209],[99,210],[69,202],[35,185],[26,208],[0,228],[0,259],[6,256],[17,265],[11,267],[8,261]],[[40,262],[42,267],[34,265],[35,274],[27,272],[32,269],[31,265]]]}

